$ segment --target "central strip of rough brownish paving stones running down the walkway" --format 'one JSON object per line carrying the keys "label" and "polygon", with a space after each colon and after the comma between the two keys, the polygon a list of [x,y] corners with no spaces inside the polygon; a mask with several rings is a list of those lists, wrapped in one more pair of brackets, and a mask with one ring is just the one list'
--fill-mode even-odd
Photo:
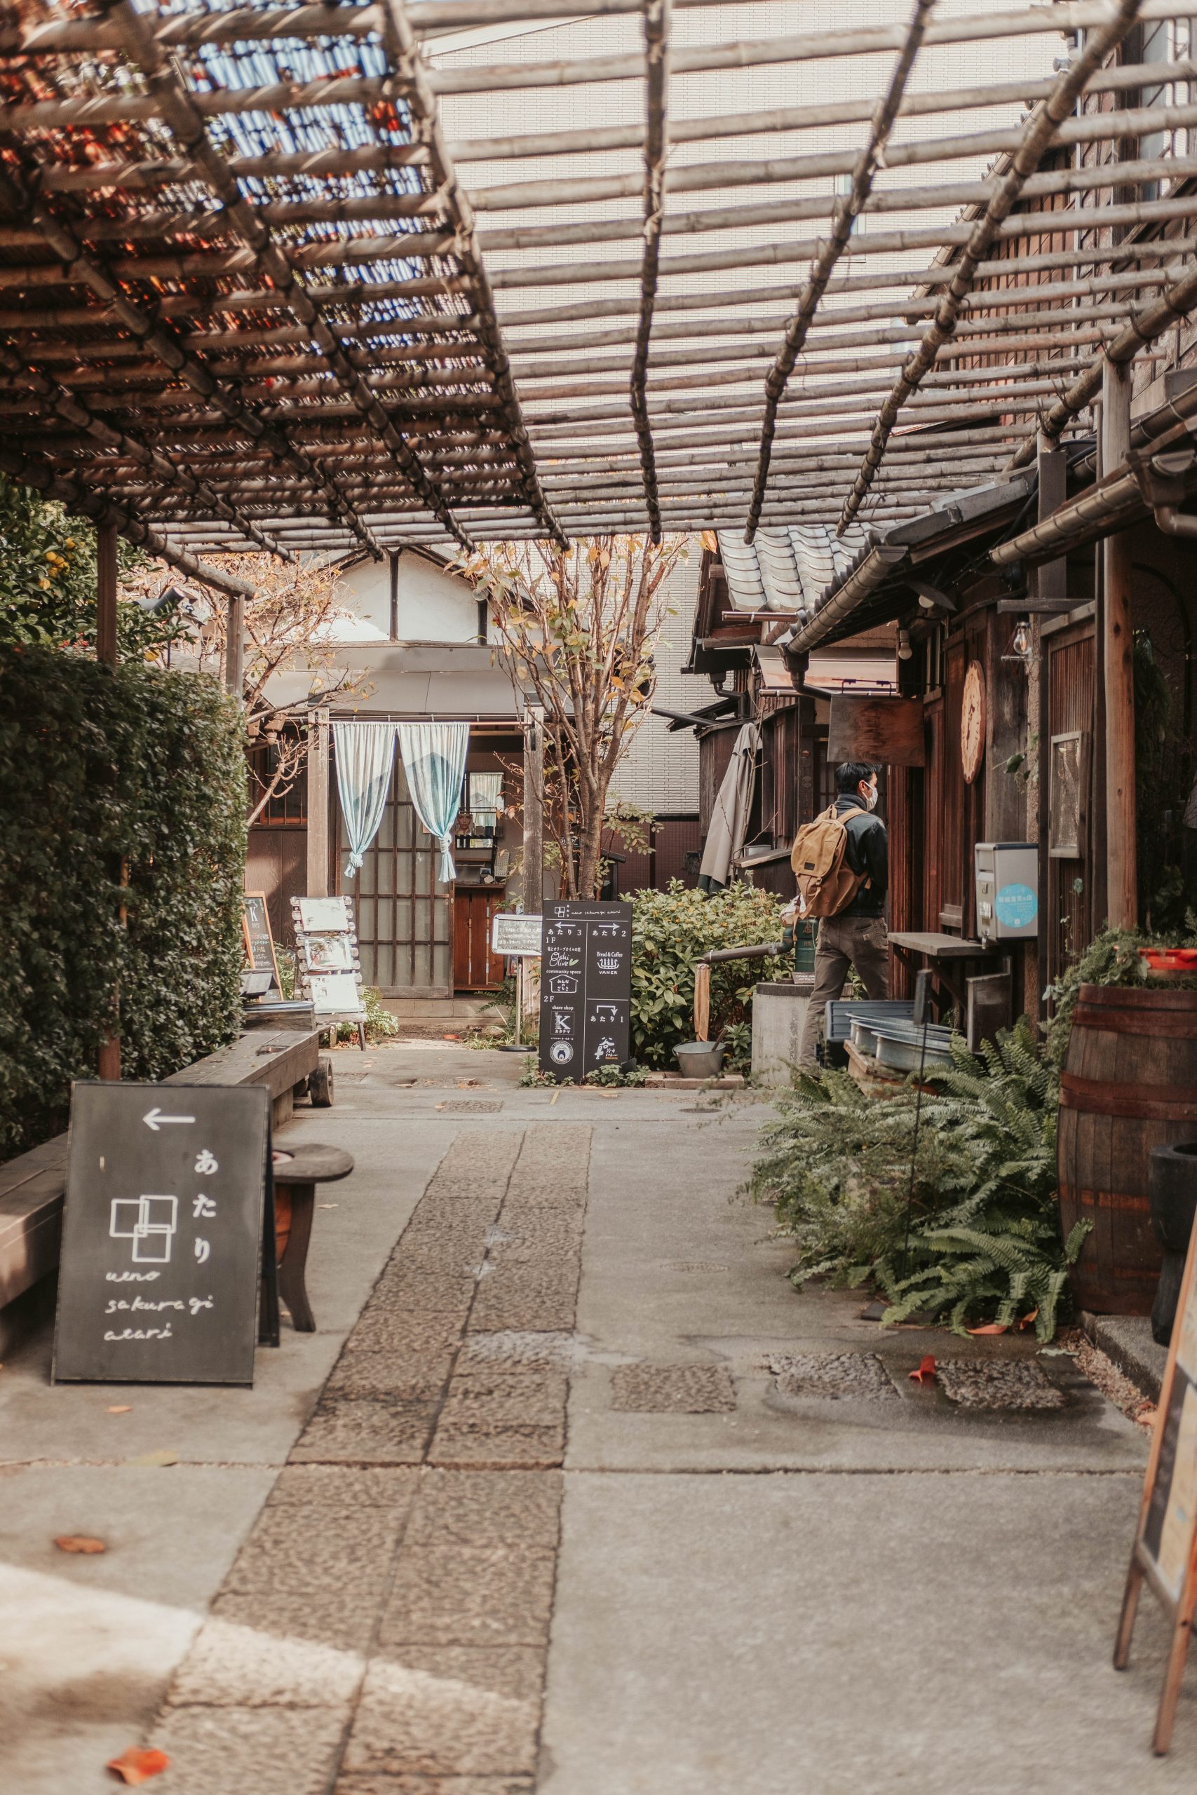
{"label": "central strip of rough brownish paving stones running down the walkway", "polygon": [[441,1160],[170,1684],[170,1795],[531,1790],[589,1151]]}

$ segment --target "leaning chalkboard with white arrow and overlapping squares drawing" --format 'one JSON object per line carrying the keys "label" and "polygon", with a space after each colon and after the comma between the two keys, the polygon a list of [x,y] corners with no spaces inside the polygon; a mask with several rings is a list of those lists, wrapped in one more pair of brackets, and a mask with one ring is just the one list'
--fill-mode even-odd
{"label": "leaning chalkboard with white arrow and overlapping squares drawing", "polygon": [[74,1086],[56,1382],[253,1382],[267,1140],[264,1086]]}

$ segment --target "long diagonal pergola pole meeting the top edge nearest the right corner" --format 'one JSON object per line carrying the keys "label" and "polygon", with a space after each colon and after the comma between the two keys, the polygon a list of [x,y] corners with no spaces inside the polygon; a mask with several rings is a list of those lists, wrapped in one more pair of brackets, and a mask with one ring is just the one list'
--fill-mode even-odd
{"label": "long diagonal pergola pole meeting the top edge nearest the right corner", "polygon": [[1025,190],[1034,178],[1034,171],[1039,167],[1039,160],[1052,142],[1057,124],[1068,117],[1077,101],[1084,95],[1091,72],[1100,68],[1105,57],[1113,56],[1118,48],[1125,34],[1136,23],[1140,11],[1141,0],[1118,0],[1114,14],[1107,14],[1102,25],[1086,38],[1084,48],[1077,54],[1077,59],[1061,74],[1052,97],[1043,101],[1027,120],[1023,144],[1016,151],[1009,171],[1001,176],[996,190],[989,197],[983,215],[971,226],[969,242],[955,264],[953,282],[939,302],[935,318],[926,328],[919,350],[903,368],[892,393],[881,407],[869,452],[861,463],[860,474],[856,476],[856,483],[843,503],[843,510],[840,512],[840,535],[860,510],[860,503],[869,490],[872,476],[881,465],[887,443],[903,406],[917,391],[919,384],[935,363],[940,345],[955,330],[957,318],[960,316],[960,302],[976,280],[978,264],[992,248],[1010,208],[1025,196]]}

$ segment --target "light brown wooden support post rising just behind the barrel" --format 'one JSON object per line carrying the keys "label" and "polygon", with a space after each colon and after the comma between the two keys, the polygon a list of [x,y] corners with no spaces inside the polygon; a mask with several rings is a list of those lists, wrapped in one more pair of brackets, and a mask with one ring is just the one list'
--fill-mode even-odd
{"label": "light brown wooden support post rising just behind the barrel", "polygon": [[[1131,381],[1105,364],[1102,379],[1102,468],[1120,467],[1131,447]],[[1105,687],[1105,914],[1111,928],[1138,919],[1134,844],[1134,634],[1131,623],[1131,542],[1125,531],[1102,542]]]}

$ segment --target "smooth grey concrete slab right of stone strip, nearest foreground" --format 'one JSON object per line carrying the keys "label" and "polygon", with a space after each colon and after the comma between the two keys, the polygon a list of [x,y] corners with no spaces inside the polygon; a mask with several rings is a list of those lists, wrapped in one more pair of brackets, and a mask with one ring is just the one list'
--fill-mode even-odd
{"label": "smooth grey concrete slab right of stone strip, nearest foreground", "polygon": [[1140,1486],[569,1475],[540,1795],[1188,1795],[1147,1599],[1109,1662]]}

